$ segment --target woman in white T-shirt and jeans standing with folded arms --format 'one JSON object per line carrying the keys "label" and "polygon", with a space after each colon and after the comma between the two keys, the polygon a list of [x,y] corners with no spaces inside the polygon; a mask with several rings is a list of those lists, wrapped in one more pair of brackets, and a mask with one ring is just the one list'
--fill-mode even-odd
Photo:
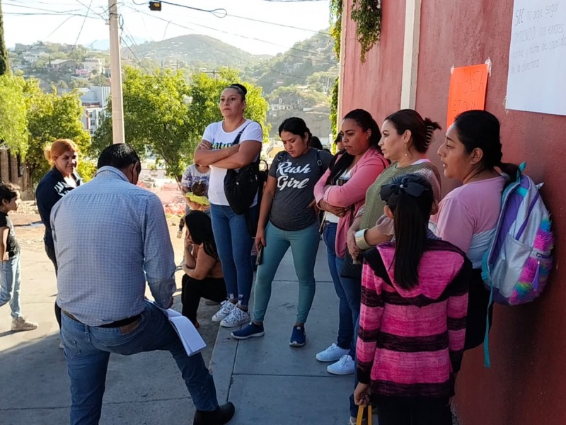
{"label": "woman in white T-shirt and jeans standing with folded arms", "polygon": [[[210,217],[228,293],[228,300],[212,320],[223,327],[236,327],[250,321],[253,237],[246,214],[236,214],[224,193],[226,170],[239,169],[256,161],[262,147],[261,125],[243,115],[247,92],[242,84],[231,84],[222,91],[219,108],[224,120],[208,125],[195,152],[196,164],[210,166]],[[239,142],[234,143],[238,138]],[[258,209],[254,200],[247,214],[252,222],[258,217]]]}

